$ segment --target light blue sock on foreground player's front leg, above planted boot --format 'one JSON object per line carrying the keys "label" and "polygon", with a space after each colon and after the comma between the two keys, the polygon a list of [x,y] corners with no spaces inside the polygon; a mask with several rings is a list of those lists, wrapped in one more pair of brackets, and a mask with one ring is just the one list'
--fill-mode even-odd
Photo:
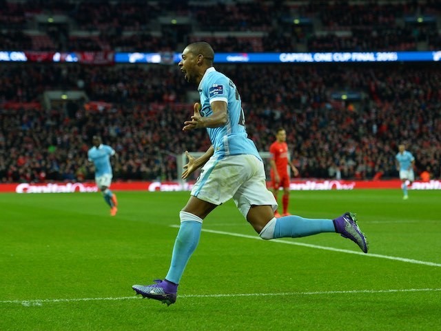
{"label": "light blue sock on foreground player's front leg, above planted boot", "polygon": [[174,242],[172,263],[165,279],[178,284],[189,258],[199,243],[202,223],[198,221],[181,221],[178,236]]}

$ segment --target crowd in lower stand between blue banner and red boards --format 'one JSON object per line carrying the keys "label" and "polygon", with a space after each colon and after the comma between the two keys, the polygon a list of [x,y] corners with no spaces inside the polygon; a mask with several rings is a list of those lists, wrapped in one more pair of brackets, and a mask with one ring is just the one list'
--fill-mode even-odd
{"label": "crowd in lower stand between blue banner and red boards", "polygon": [[[417,173],[440,177],[441,70],[437,66],[216,66],[244,101],[249,136],[267,151],[274,131],[287,130],[301,177],[396,177],[398,143],[406,141]],[[192,91],[169,66],[19,65],[0,69],[0,180],[92,179],[86,152],[100,134],[120,158],[115,179],[176,179],[176,155],[203,151],[203,130],[182,132]],[[41,92],[78,89],[84,101],[36,109]],[[360,100],[334,99],[336,88]],[[22,106],[11,106],[11,105]]]}

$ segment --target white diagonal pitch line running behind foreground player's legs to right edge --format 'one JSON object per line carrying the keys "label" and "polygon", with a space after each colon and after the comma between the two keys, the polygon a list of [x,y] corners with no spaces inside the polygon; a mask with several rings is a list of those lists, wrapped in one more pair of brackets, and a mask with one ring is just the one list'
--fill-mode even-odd
{"label": "white diagonal pitch line running behind foreground player's legs to right edge", "polygon": [[[170,225],[170,226],[172,228],[179,228],[179,225]],[[203,229],[202,231],[209,232],[209,233],[215,233],[215,234],[225,234],[227,236],[232,236],[232,237],[263,240],[258,236],[249,236],[248,234],[240,234],[240,233],[217,231],[217,230],[207,230],[207,229]],[[283,239],[271,239],[270,241],[276,242],[276,243],[287,243],[288,245],[298,245],[298,246],[309,247],[309,248],[317,248],[319,250],[331,250],[332,252],[357,254],[357,255],[362,255],[363,257],[378,257],[380,259],[389,259],[389,260],[393,260],[393,261],[407,262],[407,263],[413,263],[413,264],[430,265],[431,267],[441,267],[441,263],[419,261],[419,260],[414,260],[414,259],[406,259],[404,257],[391,257],[389,255],[371,254],[371,253],[365,254],[362,252],[355,252],[353,250],[342,250],[340,248],[333,248],[333,247],[320,246],[320,245],[311,245],[310,243],[298,243],[296,241],[287,241],[287,240],[283,240]]]}

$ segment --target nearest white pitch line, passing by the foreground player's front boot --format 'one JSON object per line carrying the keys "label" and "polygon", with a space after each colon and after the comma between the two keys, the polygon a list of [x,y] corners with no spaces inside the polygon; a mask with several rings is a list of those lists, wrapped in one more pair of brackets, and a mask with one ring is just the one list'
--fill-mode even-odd
{"label": "nearest white pitch line, passing by the foreground player's front boot", "polygon": [[[232,294],[187,294],[180,295],[179,299],[185,298],[225,298],[225,297],[276,297],[287,295],[329,295],[329,294],[382,294],[382,293],[402,293],[402,292],[438,292],[441,288],[404,288],[391,290],[348,290],[348,291],[317,291],[317,292],[282,292],[282,293],[232,293]],[[121,301],[142,299],[139,296],[115,297],[115,298],[76,298],[76,299],[35,299],[35,300],[4,300],[0,303],[18,303],[25,307],[40,306],[43,303],[63,303],[79,301]]]}

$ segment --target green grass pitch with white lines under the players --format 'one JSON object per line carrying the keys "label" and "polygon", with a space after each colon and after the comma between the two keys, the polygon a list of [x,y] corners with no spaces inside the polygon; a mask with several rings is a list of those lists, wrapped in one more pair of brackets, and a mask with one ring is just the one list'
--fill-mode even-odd
{"label": "green grass pitch with white lines under the players", "polygon": [[[174,305],[165,277],[189,192],[0,194],[0,330],[440,330],[441,192],[291,192],[303,217],[358,214],[338,234],[263,241],[229,201],[203,225]],[[355,254],[353,254],[355,253]]]}

